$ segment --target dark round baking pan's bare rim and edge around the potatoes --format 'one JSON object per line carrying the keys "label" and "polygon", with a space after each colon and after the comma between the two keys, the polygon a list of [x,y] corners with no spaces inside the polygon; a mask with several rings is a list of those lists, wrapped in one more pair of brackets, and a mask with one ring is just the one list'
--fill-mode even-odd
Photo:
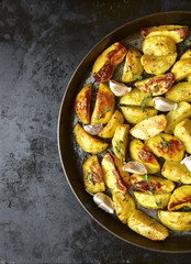
{"label": "dark round baking pan's bare rim and edge around the potatoes", "polygon": [[74,116],[74,101],[77,92],[88,78],[88,73],[90,73],[94,59],[103,50],[114,42],[124,40],[128,36],[132,37],[136,35],[136,33],[138,34],[143,26],[159,24],[182,24],[191,26],[191,12],[156,13],[127,22],[106,35],[82,59],[68,84],[60,106],[58,118],[58,148],[64,172],[74,194],[90,216],[104,229],[128,243],[145,249],[169,253],[187,253],[191,252],[191,235],[170,235],[164,242],[153,242],[128,229],[113,215],[105,213],[99,209],[93,202],[92,196],[85,190],[80,176],[80,158],[82,156],[85,161],[86,155],[82,152],[78,152],[74,143],[74,122],[77,122]]}

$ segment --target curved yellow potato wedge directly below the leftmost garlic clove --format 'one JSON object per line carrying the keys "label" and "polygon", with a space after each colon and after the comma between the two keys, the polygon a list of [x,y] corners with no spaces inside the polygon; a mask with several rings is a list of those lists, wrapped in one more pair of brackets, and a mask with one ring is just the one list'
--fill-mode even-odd
{"label": "curved yellow potato wedge directly below the leftmost garlic clove", "polygon": [[78,145],[85,152],[97,154],[103,152],[109,146],[106,142],[103,142],[96,136],[88,134],[79,123],[75,125],[74,131]]}

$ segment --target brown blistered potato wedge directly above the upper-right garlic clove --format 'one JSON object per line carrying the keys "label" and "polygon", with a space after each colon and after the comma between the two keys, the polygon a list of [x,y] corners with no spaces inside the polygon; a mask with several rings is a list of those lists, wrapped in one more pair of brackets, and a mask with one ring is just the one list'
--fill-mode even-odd
{"label": "brown blistered potato wedge directly above the upper-right garlic clove", "polygon": [[135,86],[143,92],[151,92],[153,96],[159,96],[167,92],[175,82],[175,76],[171,73],[150,77],[148,79],[135,82]]}

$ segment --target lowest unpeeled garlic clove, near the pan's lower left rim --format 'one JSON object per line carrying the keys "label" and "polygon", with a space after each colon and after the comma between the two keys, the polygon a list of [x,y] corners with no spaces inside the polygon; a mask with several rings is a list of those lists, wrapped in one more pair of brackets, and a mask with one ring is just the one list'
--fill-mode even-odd
{"label": "lowest unpeeled garlic clove, near the pan's lower left rim", "polygon": [[97,204],[99,208],[101,208],[105,212],[109,212],[109,213],[114,212],[114,204],[108,195],[103,193],[97,193],[93,196],[93,201]]}

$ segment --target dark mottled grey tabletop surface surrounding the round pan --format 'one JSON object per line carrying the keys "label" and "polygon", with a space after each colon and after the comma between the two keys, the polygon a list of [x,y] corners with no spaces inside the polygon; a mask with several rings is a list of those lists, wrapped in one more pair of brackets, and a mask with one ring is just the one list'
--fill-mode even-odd
{"label": "dark mottled grey tabletop surface surrounding the round pan", "polygon": [[167,10],[191,1],[0,2],[0,263],[190,263],[191,254],[142,250],[102,229],[57,151],[59,106],[81,58],[119,25]]}

